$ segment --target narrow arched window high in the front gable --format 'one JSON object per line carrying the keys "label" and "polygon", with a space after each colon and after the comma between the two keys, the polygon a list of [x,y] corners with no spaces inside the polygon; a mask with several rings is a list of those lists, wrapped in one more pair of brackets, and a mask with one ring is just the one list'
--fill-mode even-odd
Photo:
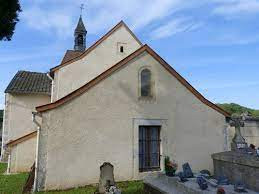
{"label": "narrow arched window high in the front gable", "polygon": [[151,97],[151,71],[149,69],[143,69],[140,73],[141,82],[141,96]]}

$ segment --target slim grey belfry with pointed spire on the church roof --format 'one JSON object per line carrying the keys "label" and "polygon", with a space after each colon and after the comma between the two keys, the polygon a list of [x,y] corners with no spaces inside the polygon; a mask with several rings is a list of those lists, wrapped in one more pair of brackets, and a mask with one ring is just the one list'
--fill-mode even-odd
{"label": "slim grey belfry with pointed spire on the church roof", "polygon": [[83,10],[83,5],[81,6],[81,15],[79,17],[76,29],[74,31],[74,37],[75,37],[75,45],[74,45],[74,50],[76,51],[84,51],[86,48],[86,34],[87,31],[85,29],[85,25],[82,20],[82,10]]}

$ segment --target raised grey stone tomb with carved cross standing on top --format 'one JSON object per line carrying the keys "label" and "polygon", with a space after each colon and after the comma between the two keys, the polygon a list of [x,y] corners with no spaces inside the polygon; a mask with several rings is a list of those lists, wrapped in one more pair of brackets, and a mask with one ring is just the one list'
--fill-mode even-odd
{"label": "raised grey stone tomb with carved cross standing on top", "polygon": [[238,117],[232,117],[230,125],[235,127],[232,151],[212,154],[214,174],[218,180],[221,176],[227,177],[230,183],[237,185],[237,191],[243,189],[242,185],[237,184],[241,179],[248,189],[259,192],[259,160],[255,152],[248,148],[240,132],[244,122]]}

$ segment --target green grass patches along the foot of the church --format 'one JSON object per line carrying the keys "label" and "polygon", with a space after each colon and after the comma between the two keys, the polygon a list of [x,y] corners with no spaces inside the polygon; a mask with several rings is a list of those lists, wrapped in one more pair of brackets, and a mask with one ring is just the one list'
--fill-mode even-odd
{"label": "green grass patches along the foot of the church", "polygon": [[[7,165],[0,163],[0,193],[19,194],[22,193],[23,186],[27,180],[28,173],[5,175]],[[117,186],[122,190],[122,194],[144,194],[143,183],[141,181],[120,182]],[[41,194],[93,194],[96,191],[95,186],[86,186],[66,191],[38,192]]]}

